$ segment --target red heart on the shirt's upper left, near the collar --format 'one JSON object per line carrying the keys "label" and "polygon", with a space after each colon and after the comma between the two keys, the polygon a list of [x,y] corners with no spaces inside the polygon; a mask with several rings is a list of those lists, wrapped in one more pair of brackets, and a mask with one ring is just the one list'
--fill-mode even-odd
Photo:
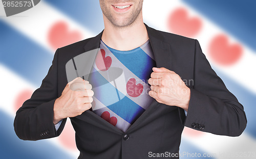
{"label": "red heart on the shirt's upper left, near the collar", "polygon": [[100,49],[95,59],[95,64],[97,68],[101,71],[108,70],[112,64],[111,57],[109,56],[105,57],[105,55],[106,55],[105,50]]}

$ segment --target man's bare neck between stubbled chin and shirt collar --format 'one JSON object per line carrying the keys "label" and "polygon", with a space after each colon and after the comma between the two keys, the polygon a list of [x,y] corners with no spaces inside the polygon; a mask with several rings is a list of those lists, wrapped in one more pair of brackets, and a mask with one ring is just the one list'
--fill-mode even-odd
{"label": "man's bare neck between stubbled chin and shirt collar", "polygon": [[105,29],[102,41],[111,48],[117,50],[132,50],[144,44],[148,40],[147,30],[142,18],[134,21],[130,26],[120,28],[109,21],[104,21]]}

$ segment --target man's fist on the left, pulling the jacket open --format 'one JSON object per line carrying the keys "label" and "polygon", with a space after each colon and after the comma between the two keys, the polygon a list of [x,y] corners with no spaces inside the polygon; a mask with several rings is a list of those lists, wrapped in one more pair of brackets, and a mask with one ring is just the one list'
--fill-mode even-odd
{"label": "man's fist on the left, pulling the jacket open", "polygon": [[94,92],[92,85],[84,81],[81,77],[75,78],[68,83],[59,98],[54,103],[53,123],[58,123],[61,119],[81,115],[84,111],[92,107]]}

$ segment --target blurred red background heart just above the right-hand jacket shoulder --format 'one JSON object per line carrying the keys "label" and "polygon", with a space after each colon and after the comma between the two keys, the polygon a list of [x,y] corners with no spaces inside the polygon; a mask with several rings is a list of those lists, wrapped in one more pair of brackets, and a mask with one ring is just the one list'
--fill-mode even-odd
{"label": "blurred red background heart just above the right-hand jacket shoulder", "polygon": [[168,28],[175,34],[194,37],[201,29],[202,22],[198,17],[189,18],[187,10],[176,9],[169,16]]}

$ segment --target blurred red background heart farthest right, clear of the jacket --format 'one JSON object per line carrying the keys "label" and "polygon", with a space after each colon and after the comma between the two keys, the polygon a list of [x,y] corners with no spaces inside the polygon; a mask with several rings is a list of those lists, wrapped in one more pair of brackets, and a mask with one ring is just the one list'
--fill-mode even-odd
{"label": "blurred red background heart farthest right, clear of the jacket", "polygon": [[243,48],[239,44],[229,44],[225,35],[218,35],[210,42],[209,53],[212,60],[221,65],[236,63],[242,56]]}

